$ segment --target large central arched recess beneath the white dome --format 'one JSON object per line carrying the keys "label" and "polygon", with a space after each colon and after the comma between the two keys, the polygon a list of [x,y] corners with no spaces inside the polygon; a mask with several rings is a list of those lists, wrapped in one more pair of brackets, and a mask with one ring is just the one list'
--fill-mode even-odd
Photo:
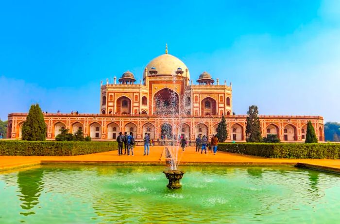
{"label": "large central arched recess beneath the white dome", "polygon": [[179,96],[170,88],[159,90],[153,96],[154,114],[169,115],[179,113]]}

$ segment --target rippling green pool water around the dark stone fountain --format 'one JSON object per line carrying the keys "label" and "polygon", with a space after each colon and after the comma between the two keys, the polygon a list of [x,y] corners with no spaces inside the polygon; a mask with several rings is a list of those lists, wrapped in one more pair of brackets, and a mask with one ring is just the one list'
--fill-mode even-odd
{"label": "rippling green pool water around the dark stone fountain", "polygon": [[292,167],[41,166],[0,174],[1,224],[340,222],[340,176]]}

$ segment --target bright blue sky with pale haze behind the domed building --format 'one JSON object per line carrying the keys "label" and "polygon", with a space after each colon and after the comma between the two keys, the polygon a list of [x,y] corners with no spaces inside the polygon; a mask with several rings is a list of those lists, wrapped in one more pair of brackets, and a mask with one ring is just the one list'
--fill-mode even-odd
{"label": "bright blue sky with pale haze behind the domed building", "polygon": [[340,1],[2,1],[0,119],[99,113],[100,82],[154,57],[233,82],[233,109],[340,121]]}

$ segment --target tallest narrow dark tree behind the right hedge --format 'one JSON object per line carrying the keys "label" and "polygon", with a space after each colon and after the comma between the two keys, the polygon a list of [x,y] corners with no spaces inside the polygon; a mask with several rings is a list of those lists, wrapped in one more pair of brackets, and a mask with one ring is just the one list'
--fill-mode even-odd
{"label": "tallest narrow dark tree behind the right hedge", "polygon": [[246,140],[247,142],[261,142],[260,119],[257,106],[252,105],[247,112]]}

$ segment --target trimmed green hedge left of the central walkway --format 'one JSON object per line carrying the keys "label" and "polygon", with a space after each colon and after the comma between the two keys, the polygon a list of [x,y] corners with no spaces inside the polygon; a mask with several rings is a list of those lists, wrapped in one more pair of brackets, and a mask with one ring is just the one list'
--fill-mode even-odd
{"label": "trimmed green hedge left of the central walkway", "polygon": [[84,155],[117,149],[116,141],[0,140],[0,155]]}

